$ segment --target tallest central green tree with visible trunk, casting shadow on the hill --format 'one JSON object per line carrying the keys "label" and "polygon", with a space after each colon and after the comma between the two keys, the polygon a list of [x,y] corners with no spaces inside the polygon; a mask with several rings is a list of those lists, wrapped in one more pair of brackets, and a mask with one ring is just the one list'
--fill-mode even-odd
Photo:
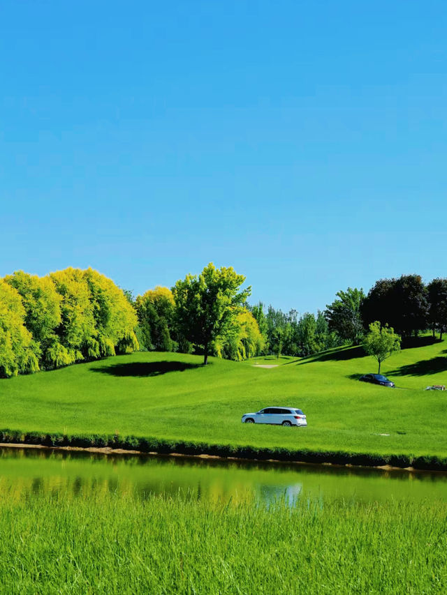
{"label": "tallest central green tree with visible trunk, casting shadow on the hill", "polygon": [[186,339],[203,349],[204,365],[212,342],[225,333],[251,293],[251,287],[239,291],[244,280],[232,266],[216,269],[210,262],[199,276],[189,274],[173,287],[177,324]]}

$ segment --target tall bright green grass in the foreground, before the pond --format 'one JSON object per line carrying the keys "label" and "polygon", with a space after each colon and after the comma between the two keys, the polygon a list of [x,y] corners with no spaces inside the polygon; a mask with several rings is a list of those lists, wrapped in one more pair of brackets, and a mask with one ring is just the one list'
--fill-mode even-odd
{"label": "tall bright green grass in the foreground, before the pond", "polygon": [[0,592],[447,591],[447,504],[0,495]]}

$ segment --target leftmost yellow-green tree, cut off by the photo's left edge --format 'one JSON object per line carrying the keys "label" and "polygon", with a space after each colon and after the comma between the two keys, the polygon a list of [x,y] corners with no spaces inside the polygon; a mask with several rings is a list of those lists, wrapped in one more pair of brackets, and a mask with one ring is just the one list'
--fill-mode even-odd
{"label": "leftmost yellow-green tree, cut off by the photo's left edge", "polygon": [[0,376],[39,369],[38,346],[24,326],[24,319],[20,294],[0,279]]}

